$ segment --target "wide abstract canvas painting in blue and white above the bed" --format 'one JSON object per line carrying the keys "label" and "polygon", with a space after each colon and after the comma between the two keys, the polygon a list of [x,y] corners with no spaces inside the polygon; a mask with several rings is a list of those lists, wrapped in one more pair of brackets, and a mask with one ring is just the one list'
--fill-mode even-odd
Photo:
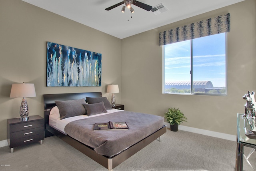
{"label": "wide abstract canvas painting in blue and white above the bed", "polygon": [[47,86],[101,86],[101,54],[47,42]]}

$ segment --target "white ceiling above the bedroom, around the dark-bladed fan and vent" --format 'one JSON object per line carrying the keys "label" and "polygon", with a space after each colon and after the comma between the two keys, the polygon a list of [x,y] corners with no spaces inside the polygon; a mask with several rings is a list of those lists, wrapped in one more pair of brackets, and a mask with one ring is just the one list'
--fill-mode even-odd
{"label": "white ceiling above the bedroom, around the dark-bladed fan and vent", "polygon": [[122,13],[122,5],[110,11],[104,10],[122,0],[22,1],[123,39],[243,0],[139,0],[153,7],[161,3],[166,6],[168,10],[158,15],[135,5],[132,5],[133,14],[127,8]]}

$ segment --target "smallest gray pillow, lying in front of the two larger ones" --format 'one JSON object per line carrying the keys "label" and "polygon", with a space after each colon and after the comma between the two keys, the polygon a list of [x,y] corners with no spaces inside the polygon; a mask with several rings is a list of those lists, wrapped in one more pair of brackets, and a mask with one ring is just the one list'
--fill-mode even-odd
{"label": "smallest gray pillow, lying in front of the two larger ones", "polygon": [[108,112],[103,101],[100,103],[84,104],[88,116]]}

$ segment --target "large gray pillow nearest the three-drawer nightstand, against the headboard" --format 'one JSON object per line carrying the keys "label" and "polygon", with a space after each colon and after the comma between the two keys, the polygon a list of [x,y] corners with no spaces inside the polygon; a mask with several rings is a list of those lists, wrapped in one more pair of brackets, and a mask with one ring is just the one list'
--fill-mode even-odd
{"label": "large gray pillow nearest the three-drawer nightstand, against the headboard", "polygon": [[55,101],[55,103],[60,111],[60,119],[86,114],[83,106],[86,104],[85,99]]}

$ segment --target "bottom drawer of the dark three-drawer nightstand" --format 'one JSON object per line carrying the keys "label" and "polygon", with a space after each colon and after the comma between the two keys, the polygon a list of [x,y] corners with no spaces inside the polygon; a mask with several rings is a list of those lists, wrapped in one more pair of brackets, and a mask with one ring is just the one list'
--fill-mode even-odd
{"label": "bottom drawer of the dark three-drawer nightstand", "polygon": [[15,141],[10,141],[10,148],[19,147],[19,146],[30,144],[30,143],[35,143],[42,139],[44,139],[44,134],[37,134],[30,137],[16,139]]}

